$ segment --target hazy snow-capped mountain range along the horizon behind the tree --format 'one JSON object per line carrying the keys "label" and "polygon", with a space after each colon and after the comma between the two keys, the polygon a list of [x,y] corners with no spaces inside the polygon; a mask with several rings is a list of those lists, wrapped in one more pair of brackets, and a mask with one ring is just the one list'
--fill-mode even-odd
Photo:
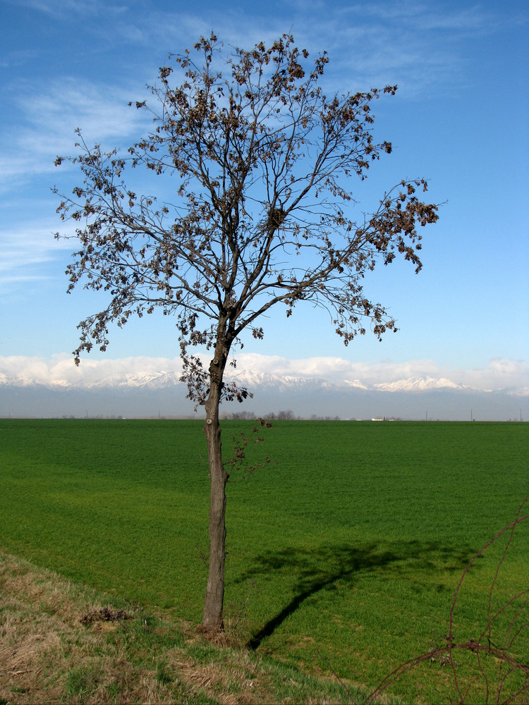
{"label": "hazy snow-capped mountain range along the horizon behind the tree", "polygon": [[[319,376],[248,370],[229,370],[227,376],[254,396],[242,407],[223,405],[225,412],[264,415],[292,410],[305,418],[507,420],[518,419],[522,410],[529,417],[528,388],[480,391],[432,377],[368,385],[358,379],[333,382]],[[186,399],[186,392],[178,372],[166,370],[111,374],[83,384],[61,379],[42,384],[0,374],[0,416],[193,416],[194,404]]]}

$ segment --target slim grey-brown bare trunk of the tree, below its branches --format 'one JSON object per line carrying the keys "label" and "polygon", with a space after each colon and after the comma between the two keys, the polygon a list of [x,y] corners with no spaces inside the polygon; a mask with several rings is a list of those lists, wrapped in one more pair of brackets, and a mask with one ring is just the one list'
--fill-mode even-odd
{"label": "slim grey-brown bare trunk of the tree, below its branches", "polygon": [[209,630],[221,630],[224,627],[222,608],[224,604],[224,563],[226,561],[225,518],[228,474],[222,464],[219,403],[226,354],[225,350],[219,350],[219,347],[217,345],[215,358],[209,365],[211,386],[209,387],[209,396],[205,403],[206,422],[204,424],[204,432],[207,438],[211,494],[209,503],[209,575],[202,626]]}

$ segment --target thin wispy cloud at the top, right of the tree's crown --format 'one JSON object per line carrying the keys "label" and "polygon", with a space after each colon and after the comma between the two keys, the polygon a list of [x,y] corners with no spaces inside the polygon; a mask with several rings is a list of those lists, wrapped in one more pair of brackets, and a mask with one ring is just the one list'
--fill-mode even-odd
{"label": "thin wispy cloud at the top, right of the tree's crown", "polygon": [[463,80],[463,36],[492,29],[486,14],[454,4],[363,3],[325,13],[317,33],[316,27],[308,33],[312,42],[321,38],[332,56],[329,71],[342,80],[348,75],[352,90],[396,83],[413,97],[439,94]]}

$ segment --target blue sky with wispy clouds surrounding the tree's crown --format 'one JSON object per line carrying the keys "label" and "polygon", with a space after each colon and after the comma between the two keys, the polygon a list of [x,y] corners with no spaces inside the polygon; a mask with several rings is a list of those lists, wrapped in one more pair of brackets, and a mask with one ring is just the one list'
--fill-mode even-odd
{"label": "blue sky with wispy clouds surrounding the tree's crown", "polygon": [[[72,243],[52,235],[65,228],[51,186],[79,181],[53,166],[75,153],[75,128],[89,144],[126,148],[146,128],[127,102],[145,97],[170,51],[212,30],[241,47],[291,31],[312,56],[328,52],[327,92],[399,85],[375,106],[375,134],[394,153],[372,169],[359,208],[420,176],[444,204],[425,231],[422,272],[393,264],[370,281],[399,333],[344,348],[327,314],[302,305],[288,321],[272,312],[265,340],[245,346],[248,364],[305,374],[324,358],[329,374],[370,369],[379,381],[406,371],[529,386],[528,27],[525,0],[0,0],[0,360],[70,364],[76,325],[99,305],[66,295]],[[112,331],[106,357],[134,365],[177,352],[170,319],[144,317]]]}

